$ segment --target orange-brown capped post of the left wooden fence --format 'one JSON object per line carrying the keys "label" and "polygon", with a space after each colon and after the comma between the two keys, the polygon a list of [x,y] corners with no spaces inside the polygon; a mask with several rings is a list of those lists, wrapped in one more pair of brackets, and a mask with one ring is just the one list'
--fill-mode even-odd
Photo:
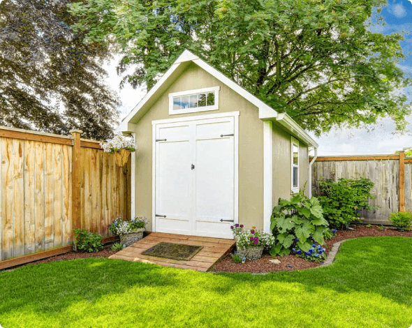
{"label": "orange-brown capped post of the left wooden fence", "polygon": [[72,228],[81,229],[81,188],[82,188],[82,150],[80,149],[81,130],[71,130],[73,135],[73,154],[72,154]]}

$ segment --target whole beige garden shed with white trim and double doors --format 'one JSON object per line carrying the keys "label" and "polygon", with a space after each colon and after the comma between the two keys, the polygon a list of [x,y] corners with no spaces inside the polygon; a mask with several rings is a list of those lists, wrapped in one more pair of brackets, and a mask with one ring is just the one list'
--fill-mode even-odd
{"label": "whole beige garden shed with white trim and double doors", "polygon": [[279,197],[311,193],[318,144],[188,50],[117,130],[138,144],[131,215],[154,232],[233,238],[236,223],[267,232]]}

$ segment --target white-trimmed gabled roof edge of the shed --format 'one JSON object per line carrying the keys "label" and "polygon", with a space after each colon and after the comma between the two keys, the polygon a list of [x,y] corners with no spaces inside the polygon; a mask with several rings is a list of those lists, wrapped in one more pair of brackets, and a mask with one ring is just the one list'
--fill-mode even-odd
{"label": "white-trimmed gabled roof edge of the shed", "polygon": [[288,114],[279,114],[272,107],[263,103],[262,100],[256,96],[253,96],[253,94],[249,91],[240,87],[239,84],[235,83],[233,80],[230,80],[226,77],[226,75],[223,75],[219,72],[219,70],[216,70],[216,68],[210,66],[189,50],[184,50],[179,58],[172,64],[172,66],[170,66],[168,71],[154,85],[154,87],[149,90],[142,100],[140,100],[138,105],[136,105],[133,110],[131,110],[131,112],[122,120],[122,123],[117,127],[117,131],[128,131],[128,123],[136,123],[192,62],[200,68],[203,68],[203,70],[207,71],[207,73],[216,77],[217,80],[221,81],[223,84],[226,84],[226,86],[230,89],[258,107],[260,119],[263,121],[277,121],[279,124],[288,129],[290,134],[307,143],[309,146],[318,147],[318,144],[295,121],[293,121]]}

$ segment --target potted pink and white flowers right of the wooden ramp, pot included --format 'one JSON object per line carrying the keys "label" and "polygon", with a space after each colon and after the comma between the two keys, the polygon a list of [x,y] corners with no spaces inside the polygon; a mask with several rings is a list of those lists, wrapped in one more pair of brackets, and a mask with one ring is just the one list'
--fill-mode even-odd
{"label": "potted pink and white flowers right of the wooden ramp, pot included", "polygon": [[236,240],[237,252],[242,253],[249,260],[258,260],[262,257],[264,248],[272,248],[274,237],[272,234],[260,232],[256,227],[251,230],[243,230],[243,226],[235,225],[230,227]]}

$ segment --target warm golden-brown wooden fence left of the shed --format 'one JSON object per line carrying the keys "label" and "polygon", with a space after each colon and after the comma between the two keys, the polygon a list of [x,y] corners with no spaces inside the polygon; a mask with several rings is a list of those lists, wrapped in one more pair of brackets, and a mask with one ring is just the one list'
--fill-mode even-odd
{"label": "warm golden-brown wooden fence left of the shed", "polygon": [[0,127],[0,269],[70,251],[74,228],[113,239],[130,218],[130,161],[98,142]]}

